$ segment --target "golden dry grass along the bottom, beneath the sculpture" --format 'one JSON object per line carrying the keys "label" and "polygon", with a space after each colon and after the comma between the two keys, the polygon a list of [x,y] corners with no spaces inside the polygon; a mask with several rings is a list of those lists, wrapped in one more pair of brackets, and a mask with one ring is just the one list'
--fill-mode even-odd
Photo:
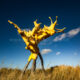
{"label": "golden dry grass along the bottom, beneath the sculpture", "polygon": [[[19,69],[0,69],[0,80],[20,80],[22,71]],[[80,80],[80,66],[56,66],[45,71],[36,70],[31,74],[30,70],[26,71],[22,80]]]}

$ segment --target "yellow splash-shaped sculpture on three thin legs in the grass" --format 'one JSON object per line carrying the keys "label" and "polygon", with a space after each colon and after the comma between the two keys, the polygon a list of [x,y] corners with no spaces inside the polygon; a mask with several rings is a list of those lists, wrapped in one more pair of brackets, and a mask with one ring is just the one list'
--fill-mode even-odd
{"label": "yellow splash-shaped sculpture on three thin legs in the grass", "polygon": [[26,64],[23,74],[25,73],[26,68],[28,67],[29,63],[31,60],[33,60],[33,65],[32,65],[32,72],[35,71],[36,68],[36,59],[39,56],[41,60],[41,65],[42,69],[44,70],[44,64],[43,64],[43,58],[40,54],[38,44],[43,40],[46,39],[55,33],[60,33],[63,32],[65,27],[63,29],[56,29],[55,26],[57,25],[57,16],[56,20],[53,23],[51,17],[49,17],[51,24],[50,26],[44,25],[43,28],[40,28],[41,23],[37,23],[37,20],[34,21],[34,28],[29,31],[26,30],[21,30],[18,25],[13,23],[12,21],[8,20],[10,24],[13,24],[14,27],[17,29],[18,33],[21,35],[22,39],[24,40],[26,47],[25,49],[28,49],[31,51],[31,55],[28,59],[28,63]]}

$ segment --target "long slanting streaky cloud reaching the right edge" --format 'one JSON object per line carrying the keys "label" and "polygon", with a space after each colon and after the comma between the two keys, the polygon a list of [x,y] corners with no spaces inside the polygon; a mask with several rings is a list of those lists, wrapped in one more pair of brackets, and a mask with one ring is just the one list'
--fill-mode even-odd
{"label": "long slanting streaky cloud reaching the right edge", "polygon": [[70,30],[69,32],[67,33],[63,33],[57,37],[54,38],[54,42],[57,42],[57,41],[61,41],[65,38],[71,38],[71,37],[74,37],[75,35],[77,35],[78,33],[80,32],[80,27],[79,28],[76,28],[76,29],[72,29]]}

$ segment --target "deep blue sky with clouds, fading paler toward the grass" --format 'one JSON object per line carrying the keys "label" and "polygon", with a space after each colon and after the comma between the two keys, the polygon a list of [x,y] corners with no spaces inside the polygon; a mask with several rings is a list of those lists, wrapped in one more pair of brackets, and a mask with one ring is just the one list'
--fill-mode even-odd
{"label": "deep blue sky with clouds, fading paler toward the grass", "polygon": [[[43,40],[38,46],[45,68],[56,65],[80,65],[80,1],[79,0],[1,0],[0,1],[0,67],[23,69],[30,51],[8,20],[21,29],[34,27],[38,19],[41,28],[50,25],[58,16],[56,28],[66,27],[64,33],[55,34]],[[32,62],[30,63],[31,67]],[[37,67],[40,60],[37,59]]]}

